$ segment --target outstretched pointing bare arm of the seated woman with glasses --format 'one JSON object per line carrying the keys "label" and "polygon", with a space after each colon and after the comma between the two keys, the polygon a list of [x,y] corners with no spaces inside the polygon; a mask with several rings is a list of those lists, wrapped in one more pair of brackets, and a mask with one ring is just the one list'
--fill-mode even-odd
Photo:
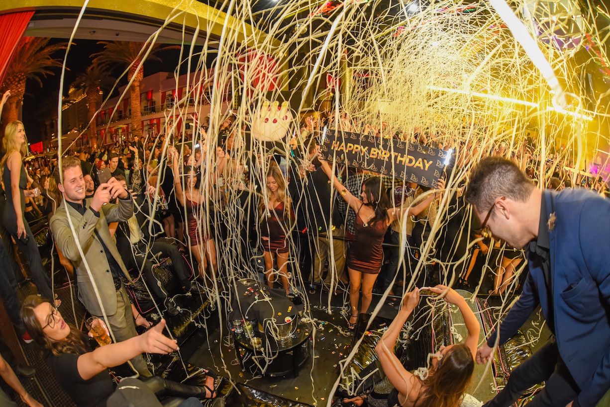
{"label": "outstretched pointing bare arm of the seated woman with glasses", "polygon": [[93,352],[79,356],[77,368],[83,380],[89,380],[109,367],[119,366],[141,353],[160,353],[167,355],[179,350],[176,339],[163,335],[165,319],[142,335],[134,336],[126,341],[101,346]]}

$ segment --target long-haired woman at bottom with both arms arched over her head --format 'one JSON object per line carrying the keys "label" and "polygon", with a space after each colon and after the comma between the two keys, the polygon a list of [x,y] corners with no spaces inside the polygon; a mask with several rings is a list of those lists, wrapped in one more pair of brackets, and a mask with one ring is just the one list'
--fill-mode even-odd
{"label": "long-haired woman at bottom with both arms arched over her head", "polygon": [[[376,383],[373,391],[366,396],[369,406],[464,407],[483,404],[465,394],[475,369],[479,322],[464,297],[453,289],[437,285],[430,290],[439,295],[444,294],[445,301],[459,307],[468,329],[464,344],[441,346],[438,353],[430,355],[432,366],[428,367],[428,375],[424,375],[424,378],[407,371],[394,354],[398,335],[420,300],[418,288],[407,292],[398,315],[375,347],[386,377]],[[361,406],[364,398],[357,396],[343,402],[353,402]]]}

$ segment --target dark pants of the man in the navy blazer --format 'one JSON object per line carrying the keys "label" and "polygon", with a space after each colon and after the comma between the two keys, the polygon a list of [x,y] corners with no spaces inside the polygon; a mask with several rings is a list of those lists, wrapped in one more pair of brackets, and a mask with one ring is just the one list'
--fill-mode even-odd
{"label": "dark pants of the man in the navy blazer", "polygon": [[531,386],[546,382],[528,407],[565,406],[578,397],[580,389],[559,356],[555,338],[551,338],[531,358],[526,359],[508,378],[506,387],[483,407],[508,407]]}

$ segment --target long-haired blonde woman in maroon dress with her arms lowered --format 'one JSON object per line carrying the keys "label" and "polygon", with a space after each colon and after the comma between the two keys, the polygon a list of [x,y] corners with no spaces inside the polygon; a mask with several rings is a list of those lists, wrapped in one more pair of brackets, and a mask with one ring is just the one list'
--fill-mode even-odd
{"label": "long-haired blonde woman in maroon dress with her arms lowered", "polygon": [[289,223],[295,218],[290,197],[286,195],[284,176],[278,165],[271,165],[267,171],[267,188],[265,197],[259,203],[260,247],[265,260],[265,277],[267,285],[273,288],[273,261],[277,265],[277,274],[282,280],[286,295],[290,294],[287,264],[290,252]]}

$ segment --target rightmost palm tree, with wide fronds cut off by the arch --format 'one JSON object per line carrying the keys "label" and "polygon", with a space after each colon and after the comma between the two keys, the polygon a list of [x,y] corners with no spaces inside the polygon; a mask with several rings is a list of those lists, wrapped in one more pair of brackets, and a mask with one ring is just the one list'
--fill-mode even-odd
{"label": "rightmost palm tree, with wide fronds cut off by the arch", "polygon": [[[104,45],[104,51],[91,55],[94,57],[93,63],[109,65],[110,63],[121,63],[129,66],[127,79],[134,82],[129,88],[129,102],[131,104],[131,135],[142,137],[142,102],[140,101],[140,82],[144,77],[144,69],[138,69],[142,62],[145,52],[140,54],[144,46],[143,43],[131,41],[99,41],[98,44]],[[148,60],[160,61],[157,57],[159,51],[167,49],[179,49],[179,46],[162,46],[153,44],[150,46]],[[131,65],[130,65],[131,64]]]}

